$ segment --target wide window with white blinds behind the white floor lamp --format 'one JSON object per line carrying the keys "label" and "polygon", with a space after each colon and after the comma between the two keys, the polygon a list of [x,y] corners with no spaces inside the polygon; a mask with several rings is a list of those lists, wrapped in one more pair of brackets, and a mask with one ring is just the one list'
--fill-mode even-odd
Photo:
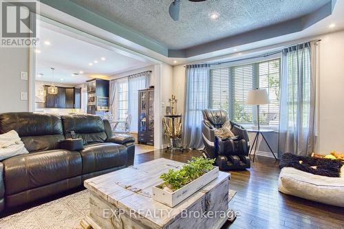
{"label": "wide window with white blinds behind the white floor lamp", "polygon": [[260,123],[279,125],[279,79],[281,59],[248,65],[211,69],[209,104],[211,109],[225,109],[230,119],[241,124],[257,123],[257,108],[246,105],[252,89],[267,89],[270,105],[260,106]]}

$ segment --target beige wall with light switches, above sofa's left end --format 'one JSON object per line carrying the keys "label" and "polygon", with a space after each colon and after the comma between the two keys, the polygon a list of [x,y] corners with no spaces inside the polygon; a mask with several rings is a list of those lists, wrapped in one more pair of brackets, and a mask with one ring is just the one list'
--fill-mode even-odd
{"label": "beige wall with light switches, above sofa's left end", "polygon": [[29,49],[0,47],[0,113],[28,111],[28,100],[21,100],[21,92],[29,97],[29,81],[21,80],[21,72],[29,73]]}

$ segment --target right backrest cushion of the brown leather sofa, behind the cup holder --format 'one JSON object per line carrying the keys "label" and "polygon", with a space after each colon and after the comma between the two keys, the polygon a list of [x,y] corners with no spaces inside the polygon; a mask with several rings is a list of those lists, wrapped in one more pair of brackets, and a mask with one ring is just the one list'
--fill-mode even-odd
{"label": "right backrest cushion of the brown leather sofa, behind the cup holder", "polygon": [[65,138],[72,138],[71,131],[74,131],[75,137],[83,138],[84,144],[107,140],[104,122],[99,116],[62,116],[62,120]]}

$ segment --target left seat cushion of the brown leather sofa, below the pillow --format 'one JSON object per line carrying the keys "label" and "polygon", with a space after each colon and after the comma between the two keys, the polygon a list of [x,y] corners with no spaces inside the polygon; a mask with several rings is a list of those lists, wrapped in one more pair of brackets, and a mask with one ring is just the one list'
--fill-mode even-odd
{"label": "left seat cushion of the brown leather sofa, below the pillow", "polygon": [[78,152],[43,151],[11,157],[3,162],[6,195],[81,175]]}

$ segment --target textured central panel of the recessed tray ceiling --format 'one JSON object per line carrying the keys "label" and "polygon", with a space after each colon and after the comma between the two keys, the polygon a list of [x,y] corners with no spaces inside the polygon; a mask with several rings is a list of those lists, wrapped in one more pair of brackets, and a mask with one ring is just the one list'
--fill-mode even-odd
{"label": "textured central panel of the recessed tray ceiling", "polygon": [[[173,0],[70,0],[111,21],[148,36],[171,50],[296,19],[330,0],[181,0],[180,21],[169,17]],[[209,14],[219,17],[211,20]]]}

